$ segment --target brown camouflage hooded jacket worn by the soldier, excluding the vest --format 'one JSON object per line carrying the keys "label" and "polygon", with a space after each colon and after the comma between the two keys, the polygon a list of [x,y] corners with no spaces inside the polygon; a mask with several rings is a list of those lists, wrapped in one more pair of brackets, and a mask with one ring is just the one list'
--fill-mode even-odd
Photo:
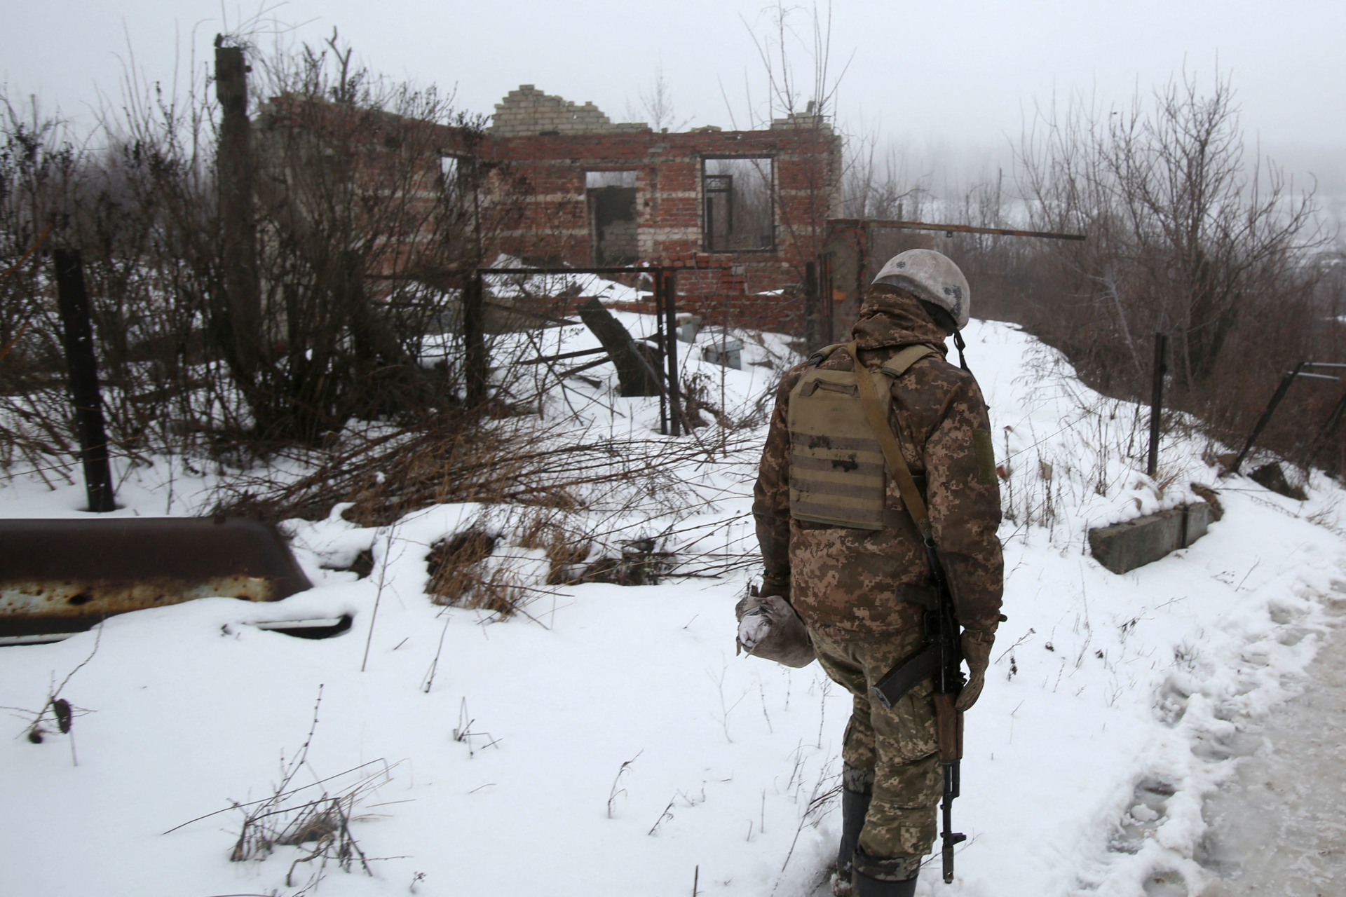
{"label": "brown camouflage hooded jacket worn by the soldier, excluding the vest", "polygon": [[[940,557],[968,629],[993,633],[1004,562],[996,530],[1000,488],[993,475],[989,418],[973,377],[944,360],[945,334],[921,304],[890,286],[871,288],[852,329],[860,360],[878,368],[903,346],[940,350],[892,382],[890,425],[918,483],[923,475]],[[930,566],[898,484],[886,477],[883,530],[828,526],[790,516],[790,390],[805,364],[777,390],[754,488],[752,515],[766,565],[765,594],[786,596],[805,623],[824,632],[882,636],[917,625],[929,600]],[[821,363],[851,370],[843,347]],[[981,437],[981,457],[973,430]]]}

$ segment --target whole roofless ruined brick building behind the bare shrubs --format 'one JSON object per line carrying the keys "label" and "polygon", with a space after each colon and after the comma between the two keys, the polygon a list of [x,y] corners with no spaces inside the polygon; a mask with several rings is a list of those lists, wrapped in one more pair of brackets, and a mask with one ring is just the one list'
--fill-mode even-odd
{"label": "whole roofless ruined brick building behind the bare shrubs", "polygon": [[[833,331],[820,321],[837,299],[835,329],[848,325],[855,253],[835,234],[841,137],[812,109],[763,130],[669,133],[522,85],[485,130],[288,95],[273,97],[254,129],[264,203],[297,196],[303,180],[324,195],[324,178],[409,200],[401,235],[374,241],[380,251],[365,261],[381,282],[435,280],[454,266],[433,249],[444,239],[437,210],[446,188],[466,188],[456,207],[472,208],[487,264],[503,253],[526,265],[676,268],[678,311],[709,323],[816,342]],[[832,278],[809,290],[810,265],[841,273],[843,289],[833,293]]]}

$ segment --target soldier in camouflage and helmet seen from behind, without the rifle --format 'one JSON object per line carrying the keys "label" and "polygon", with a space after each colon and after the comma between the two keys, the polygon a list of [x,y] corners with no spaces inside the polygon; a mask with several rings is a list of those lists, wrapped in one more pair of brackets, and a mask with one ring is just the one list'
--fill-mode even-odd
{"label": "soldier in camouflage and helmet seen from behind, without the rifle", "polygon": [[[981,693],[1004,572],[987,405],[966,367],[944,358],[953,335],[961,364],[968,304],[953,261],[905,251],[865,290],[849,344],[888,399],[888,425],[926,496],[962,625],[969,678],[960,711]],[[941,797],[933,685],[926,679],[891,709],[870,687],[922,650],[935,593],[922,538],[861,410],[849,346],[816,352],[777,390],[752,503],[760,594],[793,605],[822,668],[855,697],[833,893],[910,897]]]}

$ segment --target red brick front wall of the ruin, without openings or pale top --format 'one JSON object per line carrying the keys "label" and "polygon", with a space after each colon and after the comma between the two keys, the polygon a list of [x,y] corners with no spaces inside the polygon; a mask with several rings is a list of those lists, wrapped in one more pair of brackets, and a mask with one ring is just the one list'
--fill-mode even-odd
{"label": "red brick front wall of the ruin, without openings or pale top", "polygon": [[[639,256],[645,264],[682,269],[680,311],[712,323],[802,334],[804,265],[822,250],[839,178],[839,145],[830,132],[487,137],[482,156],[497,165],[494,188],[503,190],[510,179],[525,210],[522,221],[487,229],[502,251],[592,265],[584,172],[635,171]],[[771,251],[704,251],[701,163],[735,156],[775,160]]]}

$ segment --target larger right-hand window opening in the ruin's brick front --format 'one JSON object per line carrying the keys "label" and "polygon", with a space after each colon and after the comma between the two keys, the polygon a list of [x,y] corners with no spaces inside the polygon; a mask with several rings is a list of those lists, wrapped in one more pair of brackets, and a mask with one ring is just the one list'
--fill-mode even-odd
{"label": "larger right-hand window opening in the ruin's brick front", "polygon": [[770,157],[704,160],[701,192],[709,251],[770,251],[775,247]]}

